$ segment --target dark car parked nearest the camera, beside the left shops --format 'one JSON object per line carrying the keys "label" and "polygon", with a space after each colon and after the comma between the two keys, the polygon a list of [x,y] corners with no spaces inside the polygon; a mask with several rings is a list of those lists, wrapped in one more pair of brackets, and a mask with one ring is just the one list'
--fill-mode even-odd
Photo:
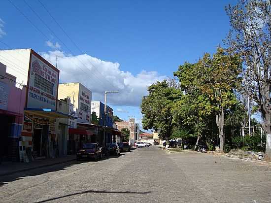
{"label": "dark car parked nearest the camera, beside the left shops", "polygon": [[102,159],[102,148],[97,143],[85,143],[76,153],[76,159]]}

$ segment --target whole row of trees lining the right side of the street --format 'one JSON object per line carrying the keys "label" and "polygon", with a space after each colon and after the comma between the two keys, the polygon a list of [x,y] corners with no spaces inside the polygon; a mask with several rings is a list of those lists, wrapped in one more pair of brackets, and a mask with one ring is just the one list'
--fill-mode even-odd
{"label": "whole row of trees lining the right side of the street", "polygon": [[[256,104],[266,133],[271,159],[271,6],[265,0],[240,0],[227,6],[231,30],[225,48],[204,54],[195,64],[181,65],[174,79],[148,87],[142,98],[143,128],[155,129],[163,139],[189,130],[208,142],[220,143],[240,135],[246,126],[245,98]],[[254,121],[255,122],[255,121]],[[228,132],[228,137],[225,136]]]}

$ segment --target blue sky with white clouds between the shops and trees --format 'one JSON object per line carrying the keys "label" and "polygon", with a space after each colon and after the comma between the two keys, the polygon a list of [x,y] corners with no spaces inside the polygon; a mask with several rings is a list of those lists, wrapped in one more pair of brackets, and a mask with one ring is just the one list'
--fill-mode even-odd
{"label": "blue sky with white clouds between the shops and trees", "polygon": [[[116,115],[123,119],[133,115],[137,121],[141,118],[140,100],[149,84],[172,76],[180,64],[196,62],[204,52],[213,53],[217,45],[223,45],[222,39],[229,31],[224,7],[237,2],[40,0],[85,54],[81,55],[38,0],[27,2],[57,37],[23,0],[10,1],[45,36],[9,0],[2,0],[1,41],[12,48],[33,48],[52,64],[56,55],[62,56],[62,82],[79,80],[93,91],[94,100],[103,100],[105,90],[119,90],[120,94],[108,96],[109,104]],[[0,49],[7,47],[0,43]],[[81,64],[72,67],[69,60],[74,64],[80,60]]]}

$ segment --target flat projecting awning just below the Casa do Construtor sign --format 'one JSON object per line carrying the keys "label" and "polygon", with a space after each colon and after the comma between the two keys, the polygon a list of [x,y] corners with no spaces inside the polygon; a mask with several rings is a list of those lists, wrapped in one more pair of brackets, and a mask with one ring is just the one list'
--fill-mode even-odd
{"label": "flat projecting awning just below the Casa do Construtor sign", "polygon": [[77,117],[55,111],[49,108],[25,108],[25,112],[29,114],[34,114],[37,116],[44,116],[48,118],[71,118],[76,119]]}

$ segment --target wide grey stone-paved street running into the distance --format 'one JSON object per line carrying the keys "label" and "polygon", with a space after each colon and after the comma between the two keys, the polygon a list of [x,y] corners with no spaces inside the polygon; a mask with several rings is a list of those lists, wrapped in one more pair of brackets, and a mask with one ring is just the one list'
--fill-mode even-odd
{"label": "wide grey stone-paved street running into the distance", "polygon": [[0,202],[270,203],[271,166],[152,146],[0,177]]}

